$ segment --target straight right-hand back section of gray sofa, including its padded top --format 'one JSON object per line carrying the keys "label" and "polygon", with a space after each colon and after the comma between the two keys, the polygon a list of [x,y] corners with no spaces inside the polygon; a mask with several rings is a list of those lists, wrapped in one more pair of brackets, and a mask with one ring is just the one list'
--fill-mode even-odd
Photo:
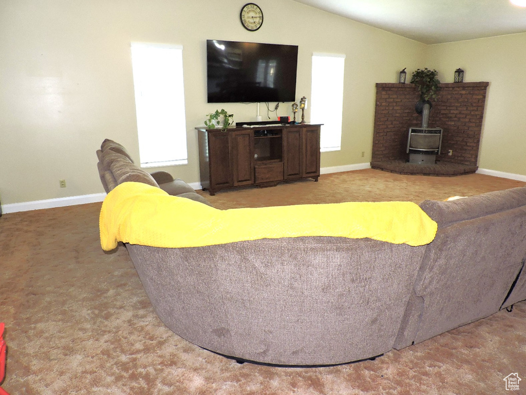
{"label": "straight right-hand back section of gray sofa, including its padded top", "polygon": [[439,229],[414,282],[397,349],[499,311],[526,251],[526,187],[420,207]]}

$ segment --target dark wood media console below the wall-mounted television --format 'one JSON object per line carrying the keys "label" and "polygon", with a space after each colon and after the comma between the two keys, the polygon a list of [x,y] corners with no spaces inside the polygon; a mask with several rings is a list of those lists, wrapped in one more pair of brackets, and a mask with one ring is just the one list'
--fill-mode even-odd
{"label": "dark wood media console below the wall-mounted television", "polygon": [[214,195],[244,185],[273,186],[320,175],[320,126],[196,127],[201,186]]}

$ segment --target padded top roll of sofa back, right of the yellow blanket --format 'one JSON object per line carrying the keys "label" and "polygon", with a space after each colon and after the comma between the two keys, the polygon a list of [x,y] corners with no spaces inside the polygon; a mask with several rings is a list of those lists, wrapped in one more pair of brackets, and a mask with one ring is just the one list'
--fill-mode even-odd
{"label": "padded top roll of sofa back, right of the yellow blanket", "polygon": [[526,205],[526,187],[488,192],[447,202],[424,200],[420,203],[420,208],[441,228],[523,205]]}

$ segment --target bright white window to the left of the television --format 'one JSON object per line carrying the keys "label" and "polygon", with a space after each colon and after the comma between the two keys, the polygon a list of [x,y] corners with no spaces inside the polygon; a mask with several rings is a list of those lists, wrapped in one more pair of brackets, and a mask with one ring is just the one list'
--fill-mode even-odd
{"label": "bright white window to the left of the television", "polygon": [[183,47],[131,43],[140,165],[188,163]]}

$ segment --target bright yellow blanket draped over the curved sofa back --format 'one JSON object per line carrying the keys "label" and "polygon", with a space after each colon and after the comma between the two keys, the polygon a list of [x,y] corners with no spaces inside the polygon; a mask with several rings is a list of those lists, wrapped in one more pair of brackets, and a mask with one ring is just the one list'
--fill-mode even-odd
{"label": "bright yellow blanket draped over the curved sofa back", "polygon": [[218,210],[137,182],[125,182],[108,193],[99,225],[106,251],[116,248],[118,241],[172,248],[300,236],[371,238],[416,246],[431,242],[437,232],[437,223],[412,202]]}

